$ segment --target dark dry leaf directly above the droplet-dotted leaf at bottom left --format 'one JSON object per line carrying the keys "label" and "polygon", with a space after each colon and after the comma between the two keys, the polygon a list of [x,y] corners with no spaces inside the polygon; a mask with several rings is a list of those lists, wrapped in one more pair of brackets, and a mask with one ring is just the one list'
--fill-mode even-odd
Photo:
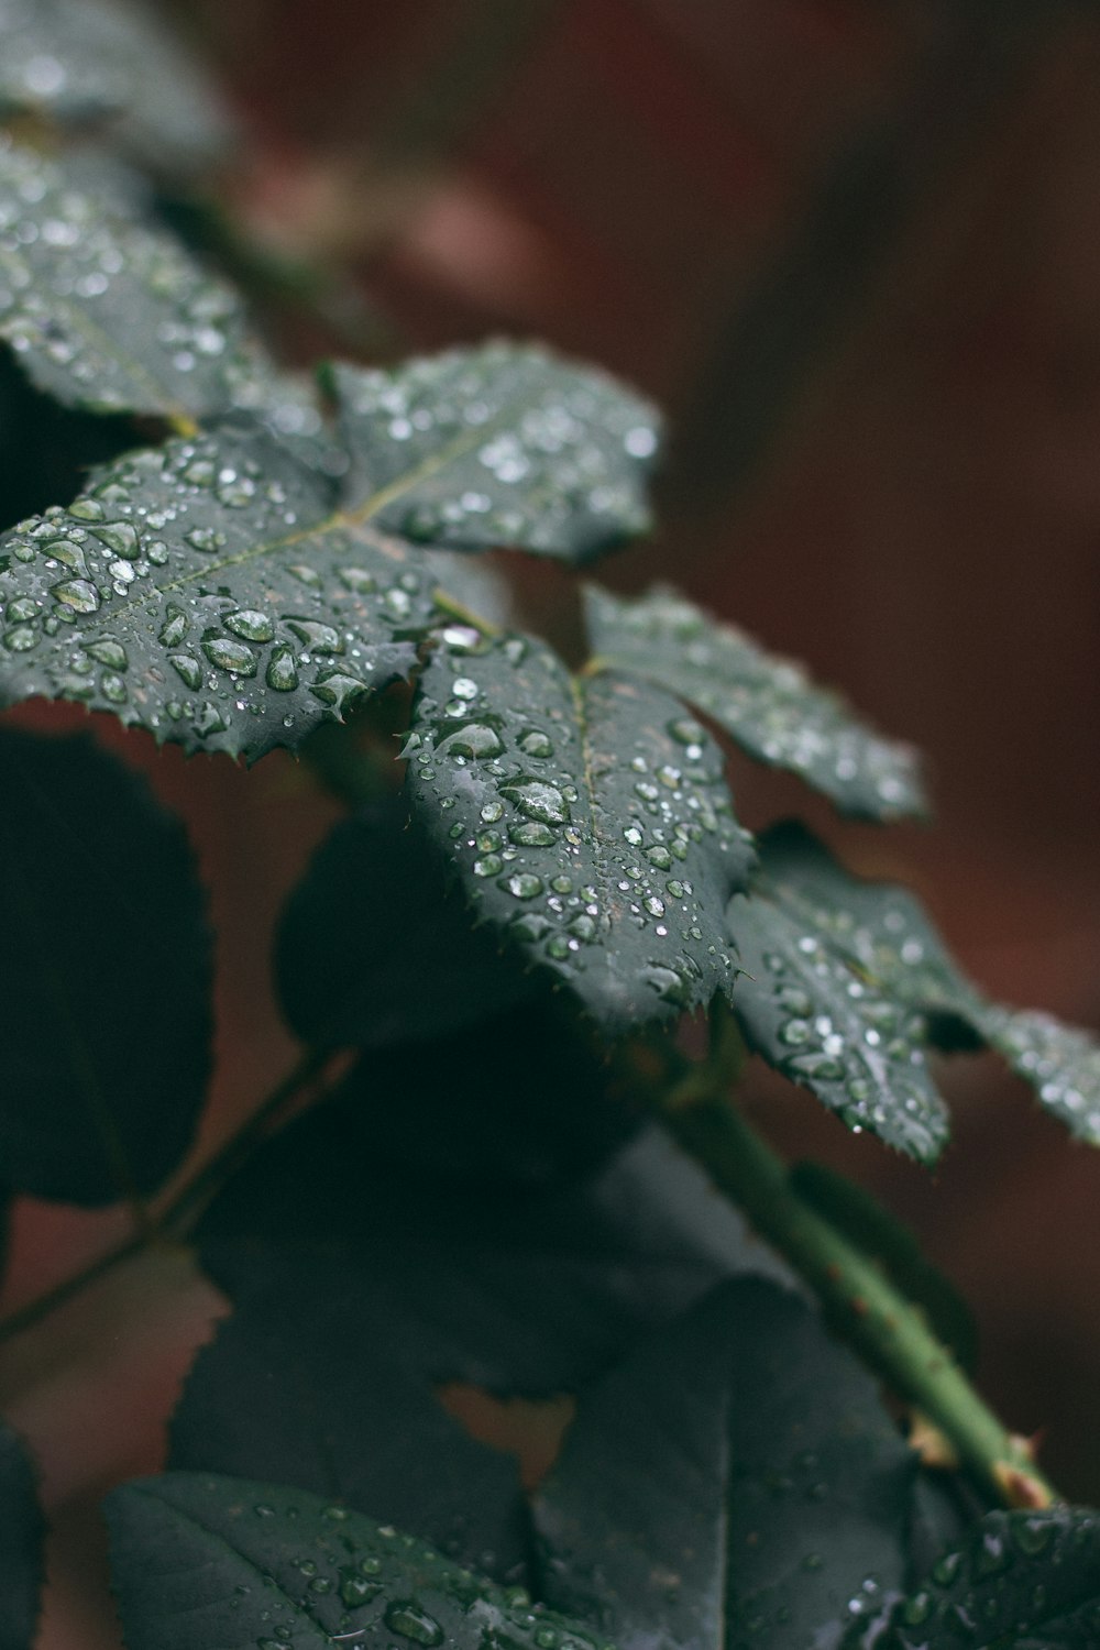
{"label": "dark dry leaf directly above the droplet-dotted leaf at bottom left", "polygon": [[200,1351],[172,1467],[313,1490],[515,1581],[526,1520],[513,1457],[475,1442],[432,1386],[468,1355],[376,1266],[264,1246],[218,1257],[234,1310]]}

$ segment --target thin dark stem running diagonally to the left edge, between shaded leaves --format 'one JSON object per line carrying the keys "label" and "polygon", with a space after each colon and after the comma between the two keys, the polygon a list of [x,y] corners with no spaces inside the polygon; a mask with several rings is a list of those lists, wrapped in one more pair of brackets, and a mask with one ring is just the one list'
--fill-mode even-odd
{"label": "thin dark stem running diagonally to the left edge, between shaded leaves", "polygon": [[140,1229],[124,1238],[112,1249],[106,1249],[104,1254],[96,1256],[94,1261],[89,1261],[78,1272],[61,1279],[59,1284],[53,1284],[41,1295],[35,1295],[33,1300],[16,1307],[5,1318],[0,1318],[0,1345],[21,1335],[23,1330],[31,1328],[35,1323],[41,1323],[58,1307],[66,1305],[66,1302],[81,1295],[91,1284],[99,1282],[101,1277],[114,1272],[115,1267],[142,1254],[145,1249],[165,1242],[180,1242],[226,1180],[236,1173],[267,1130],[279,1120],[279,1114],[322,1076],[328,1063],[328,1053],[307,1053],[261,1106],[218,1147],[213,1157],[200,1163],[165,1206],[158,1213],[148,1214]]}

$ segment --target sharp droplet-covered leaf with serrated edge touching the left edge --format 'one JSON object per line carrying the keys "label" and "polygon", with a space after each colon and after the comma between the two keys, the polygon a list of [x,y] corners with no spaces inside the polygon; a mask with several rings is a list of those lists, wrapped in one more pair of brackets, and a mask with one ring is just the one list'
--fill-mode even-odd
{"label": "sharp droplet-covered leaf with serrated edge touching the left edge", "polygon": [[[399,544],[261,436],[112,465],[0,540],[5,698],[82,700],[158,738],[259,754],[411,668],[434,615]],[[313,531],[317,528],[317,531]]]}

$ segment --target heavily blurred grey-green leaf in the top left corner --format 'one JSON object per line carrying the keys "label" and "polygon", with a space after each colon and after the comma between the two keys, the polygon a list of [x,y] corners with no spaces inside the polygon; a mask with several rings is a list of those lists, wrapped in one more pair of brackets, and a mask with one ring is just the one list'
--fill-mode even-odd
{"label": "heavily blurred grey-green leaf in the top left corner", "polygon": [[122,0],[5,0],[0,119],[94,125],[157,172],[216,160],[231,129],[209,82],[145,8]]}

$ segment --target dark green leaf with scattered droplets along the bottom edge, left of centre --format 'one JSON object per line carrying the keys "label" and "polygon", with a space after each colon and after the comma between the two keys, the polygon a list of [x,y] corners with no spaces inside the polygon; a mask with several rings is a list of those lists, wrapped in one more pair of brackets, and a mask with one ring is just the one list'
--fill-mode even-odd
{"label": "dark green leaf with scattered droplets along the bottom edge, left of centre", "polygon": [[546,1650],[549,1634],[597,1647],[526,1594],[303,1490],[168,1473],[115,1490],[107,1515],[134,1650],[282,1650],[287,1640],[292,1650],[328,1650],[340,1635],[429,1650]]}

